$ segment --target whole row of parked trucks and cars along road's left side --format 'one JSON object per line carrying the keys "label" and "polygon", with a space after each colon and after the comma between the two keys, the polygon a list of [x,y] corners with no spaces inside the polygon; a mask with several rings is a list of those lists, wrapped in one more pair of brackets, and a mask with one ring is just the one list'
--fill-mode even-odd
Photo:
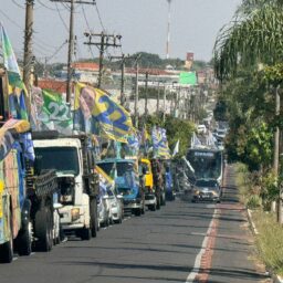
{"label": "whole row of parked trucks and cars along road's left side", "polygon": [[0,128],[1,262],[11,262],[14,252],[50,251],[69,234],[90,240],[101,226],[122,223],[125,213],[139,217],[175,199],[170,160],[98,160],[85,134],[52,130],[32,133],[31,148],[28,124]]}

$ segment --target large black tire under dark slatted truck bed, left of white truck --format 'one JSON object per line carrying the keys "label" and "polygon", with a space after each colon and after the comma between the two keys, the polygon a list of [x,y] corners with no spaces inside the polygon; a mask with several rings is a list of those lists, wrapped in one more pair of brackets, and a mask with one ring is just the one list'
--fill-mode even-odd
{"label": "large black tire under dark slatted truck bed, left of white truck", "polygon": [[51,211],[44,207],[35,213],[34,232],[38,238],[36,249],[42,252],[49,252],[53,245]]}

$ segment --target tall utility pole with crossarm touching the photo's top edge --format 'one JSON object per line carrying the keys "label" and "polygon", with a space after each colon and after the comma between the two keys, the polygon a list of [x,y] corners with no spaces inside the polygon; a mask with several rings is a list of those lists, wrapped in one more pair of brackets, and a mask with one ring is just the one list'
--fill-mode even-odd
{"label": "tall utility pole with crossarm touching the photo's top edge", "polygon": [[94,4],[95,1],[80,0],[50,0],[51,2],[70,3],[70,27],[69,27],[69,50],[67,50],[67,78],[66,78],[66,102],[70,103],[72,93],[73,53],[74,53],[74,4]]}

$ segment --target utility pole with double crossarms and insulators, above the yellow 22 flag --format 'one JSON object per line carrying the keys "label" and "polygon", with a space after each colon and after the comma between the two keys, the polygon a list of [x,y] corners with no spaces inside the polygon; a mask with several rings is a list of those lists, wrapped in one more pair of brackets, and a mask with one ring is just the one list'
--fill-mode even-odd
{"label": "utility pole with double crossarms and insulators, above the yellow 22 flag", "polygon": [[[88,42],[84,42],[86,45],[95,45],[99,49],[99,73],[98,73],[98,81],[97,81],[97,87],[101,87],[102,85],[102,75],[103,75],[103,59],[104,59],[104,52],[108,46],[113,48],[120,48],[122,45],[117,43],[117,40],[120,41],[122,35],[114,35],[114,34],[105,34],[102,33],[90,33],[85,32],[84,35],[88,38]],[[93,38],[99,38],[99,42],[93,42]]]}

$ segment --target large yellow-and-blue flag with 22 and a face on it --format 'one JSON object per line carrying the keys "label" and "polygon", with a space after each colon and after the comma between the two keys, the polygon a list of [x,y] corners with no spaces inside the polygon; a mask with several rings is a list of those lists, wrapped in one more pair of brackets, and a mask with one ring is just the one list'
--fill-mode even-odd
{"label": "large yellow-and-blue flag with 22 and a face on it", "polygon": [[127,143],[127,136],[133,133],[129,113],[103,90],[77,83],[74,113],[76,128],[78,125],[80,129],[120,143]]}

